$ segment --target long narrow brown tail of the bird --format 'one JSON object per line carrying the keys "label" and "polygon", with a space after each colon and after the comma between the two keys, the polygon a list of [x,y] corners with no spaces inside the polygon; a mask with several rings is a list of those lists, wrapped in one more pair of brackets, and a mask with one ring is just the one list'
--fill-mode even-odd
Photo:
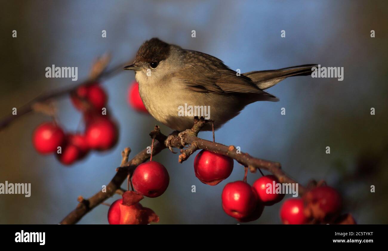
{"label": "long narrow brown tail of the bird", "polygon": [[253,83],[262,90],[270,88],[286,77],[307,76],[312,73],[311,68],[316,64],[298,65],[277,70],[260,70],[243,73],[244,76],[252,79]]}

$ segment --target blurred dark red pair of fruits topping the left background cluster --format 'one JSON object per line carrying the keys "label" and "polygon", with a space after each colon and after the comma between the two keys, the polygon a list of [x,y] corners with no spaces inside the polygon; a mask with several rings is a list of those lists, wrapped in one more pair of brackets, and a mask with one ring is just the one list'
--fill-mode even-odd
{"label": "blurred dark red pair of fruits topping the left background cluster", "polygon": [[104,89],[97,83],[80,86],[76,89],[76,95],[71,96],[71,101],[78,110],[85,110],[83,100],[89,102],[94,109],[101,110],[106,106],[107,95]]}

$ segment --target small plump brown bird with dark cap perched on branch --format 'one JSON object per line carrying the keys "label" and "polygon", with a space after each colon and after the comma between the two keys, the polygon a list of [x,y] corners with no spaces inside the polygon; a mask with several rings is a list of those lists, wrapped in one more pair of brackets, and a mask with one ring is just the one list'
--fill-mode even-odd
{"label": "small plump brown bird with dark cap perched on branch", "polygon": [[[209,108],[208,119],[218,129],[250,103],[278,101],[263,90],[286,77],[310,75],[314,66],[238,74],[216,57],[152,38],[140,46],[135,62],[124,69],[135,71],[148,112],[168,127],[184,131],[192,127],[194,114],[182,113],[182,108],[193,107],[198,112]],[[210,131],[211,125],[203,130]]]}

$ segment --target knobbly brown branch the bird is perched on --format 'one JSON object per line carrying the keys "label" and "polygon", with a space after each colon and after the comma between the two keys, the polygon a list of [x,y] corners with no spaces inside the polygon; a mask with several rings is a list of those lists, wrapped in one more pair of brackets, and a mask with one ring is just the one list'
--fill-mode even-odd
{"label": "knobbly brown branch the bird is perched on", "polygon": [[[237,153],[237,150],[234,146],[226,146],[217,142],[207,141],[197,137],[198,132],[206,124],[206,120],[194,119],[194,126],[192,127],[192,133],[186,133],[183,136],[183,141],[185,144],[189,144],[189,148],[181,149],[181,155],[179,156],[179,162],[182,163],[186,160],[192,153],[198,149],[206,149],[219,153],[225,156],[233,158],[237,162],[241,163],[244,167],[248,167],[251,172],[255,172],[256,169],[261,168],[265,169],[268,172],[272,173],[279,179],[279,182],[282,183],[297,183],[294,179],[289,177],[282,169],[281,165],[278,162],[272,162],[268,160],[263,160],[260,158],[255,158],[249,155],[248,153]],[[163,135],[158,126],[155,126],[154,130],[150,133],[151,137],[155,139],[154,145],[152,148],[152,155],[158,154],[163,149],[167,148],[168,141],[167,137]],[[181,138],[176,135],[170,140],[170,145],[175,148],[182,148]],[[89,199],[83,199],[76,208],[71,211],[62,221],[61,224],[74,224],[77,223],[85,214],[96,206],[103,203],[106,199],[113,196],[115,193],[122,194],[123,189],[121,189],[121,184],[127,178],[128,173],[132,173],[135,168],[141,163],[148,160],[151,156],[150,153],[147,153],[147,148],[140,151],[135,155],[131,160],[128,160],[128,155],[130,153],[129,148],[126,148],[123,153],[123,160],[121,166],[117,168],[116,175],[106,186],[106,191],[99,191],[94,196]],[[303,194],[306,191],[305,187],[299,185],[299,193]]]}

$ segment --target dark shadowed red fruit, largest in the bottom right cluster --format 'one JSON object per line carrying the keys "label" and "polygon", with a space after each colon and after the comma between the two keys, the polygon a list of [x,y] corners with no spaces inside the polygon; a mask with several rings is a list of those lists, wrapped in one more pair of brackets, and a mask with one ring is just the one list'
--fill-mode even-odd
{"label": "dark shadowed red fruit, largest in the bottom right cluster", "polygon": [[342,207],[340,193],[329,186],[315,187],[308,191],[303,198],[312,217],[318,220],[329,220],[337,216]]}

